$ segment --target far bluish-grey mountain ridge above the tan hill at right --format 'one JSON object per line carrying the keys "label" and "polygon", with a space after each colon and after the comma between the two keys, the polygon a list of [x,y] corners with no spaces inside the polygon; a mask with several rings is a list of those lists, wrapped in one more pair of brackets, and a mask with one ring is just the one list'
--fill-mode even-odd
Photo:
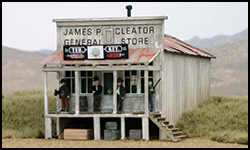
{"label": "far bluish-grey mountain ridge above the tan hill at right", "polygon": [[204,38],[204,39],[200,39],[198,36],[195,36],[185,42],[203,49],[203,48],[207,48],[207,47],[211,47],[211,46],[215,46],[218,44],[222,44],[222,43],[226,43],[226,42],[232,42],[232,41],[237,41],[237,40],[241,40],[241,39],[246,39],[248,38],[248,28],[246,28],[245,30],[234,34],[234,35],[217,35],[214,36],[212,38]]}

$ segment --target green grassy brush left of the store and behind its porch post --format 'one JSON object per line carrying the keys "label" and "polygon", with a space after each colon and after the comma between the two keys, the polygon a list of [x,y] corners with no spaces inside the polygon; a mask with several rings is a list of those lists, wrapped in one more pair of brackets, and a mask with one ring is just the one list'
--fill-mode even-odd
{"label": "green grassy brush left of the store and behind its porch post", "polygon": [[[56,110],[56,97],[49,93],[49,107]],[[55,120],[53,133],[55,134]],[[36,90],[5,94],[2,99],[2,137],[44,137],[44,92]]]}

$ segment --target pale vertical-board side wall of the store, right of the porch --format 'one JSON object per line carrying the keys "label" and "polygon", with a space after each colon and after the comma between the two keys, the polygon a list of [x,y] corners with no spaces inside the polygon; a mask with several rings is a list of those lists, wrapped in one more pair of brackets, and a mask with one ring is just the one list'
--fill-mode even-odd
{"label": "pale vertical-board side wall of the store, right of the porch", "polygon": [[[176,124],[183,112],[210,95],[210,58],[165,53],[162,114]],[[162,91],[164,93],[164,91]]]}

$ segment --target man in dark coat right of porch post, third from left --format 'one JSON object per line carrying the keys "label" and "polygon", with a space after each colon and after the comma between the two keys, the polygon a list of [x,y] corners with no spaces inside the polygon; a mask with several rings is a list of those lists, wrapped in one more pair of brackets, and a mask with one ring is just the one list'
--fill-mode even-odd
{"label": "man in dark coat right of porch post, third from left", "polygon": [[126,94],[126,89],[122,85],[123,79],[117,79],[117,110],[122,111],[122,102],[124,100],[124,96]]}

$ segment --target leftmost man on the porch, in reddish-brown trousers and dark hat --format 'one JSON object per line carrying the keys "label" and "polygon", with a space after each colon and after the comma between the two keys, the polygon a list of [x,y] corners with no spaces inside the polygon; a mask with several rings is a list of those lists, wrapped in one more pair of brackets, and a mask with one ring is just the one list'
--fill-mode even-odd
{"label": "leftmost man on the porch, in reddish-brown trousers and dark hat", "polygon": [[59,91],[57,92],[57,94],[59,94],[59,98],[61,99],[61,102],[62,102],[61,111],[65,111],[65,105],[66,105],[66,111],[69,111],[69,94],[70,94],[70,90],[66,86],[66,80],[65,79],[61,79],[60,84],[61,84],[61,87],[60,87]]}

